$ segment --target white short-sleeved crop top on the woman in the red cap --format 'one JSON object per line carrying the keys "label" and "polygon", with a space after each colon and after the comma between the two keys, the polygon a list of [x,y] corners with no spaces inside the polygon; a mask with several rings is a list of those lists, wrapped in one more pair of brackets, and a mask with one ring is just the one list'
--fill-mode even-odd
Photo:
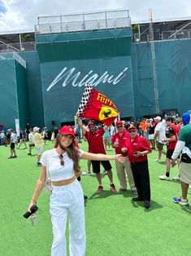
{"label": "white short-sleeved crop top on the woman in the red cap", "polygon": [[[83,151],[79,149],[79,158],[82,157]],[[51,181],[59,181],[63,179],[71,179],[74,176],[74,162],[67,156],[67,152],[63,153],[64,165],[60,165],[59,154],[55,148],[43,152],[41,156],[42,166],[46,166],[50,174]]]}

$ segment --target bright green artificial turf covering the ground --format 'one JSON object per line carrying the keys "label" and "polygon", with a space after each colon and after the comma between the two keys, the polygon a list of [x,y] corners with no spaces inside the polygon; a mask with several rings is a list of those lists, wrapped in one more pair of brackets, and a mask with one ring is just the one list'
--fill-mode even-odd
{"label": "bright green artificial turf covering the ground", "polygon": [[[44,148],[52,145],[48,142]],[[80,147],[87,150],[86,142]],[[36,156],[27,155],[28,149],[17,153],[18,158],[7,159],[10,148],[0,147],[0,255],[48,256],[53,239],[49,196],[42,192],[37,201],[43,210],[37,216],[37,227],[22,217],[41,168],[36,166]],[[104,191],[99,195],[95,193],[98,187],[95,176],[82,177],[81,185],[89,196],[85,206],[87,256],[191,255],[191,206],[173,203],[172,197],[180,196],[180,183],[158,180],[158,175],[165,173],[165,163],[154,162],[156,157],[156,151],[149,156],[152,199],[149,210],[145,210],[142,202],[132,202],[129,190],[123,194],[111,192],[107,176],[102,176]],[[115,185],[119,188],[114,161],[111,163]],[[80,161],[80,166],[86,170],[86,161]],[[171,170],[171,177],[177,174],[176,166]]]}

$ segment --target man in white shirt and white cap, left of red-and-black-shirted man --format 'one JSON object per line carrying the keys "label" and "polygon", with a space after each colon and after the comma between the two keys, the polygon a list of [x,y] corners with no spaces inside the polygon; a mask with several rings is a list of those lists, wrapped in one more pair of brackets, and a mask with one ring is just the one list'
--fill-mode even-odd
{"label": "man in white shirt and white cap, left of red-and-black-shirted man", "polygon": [[164,142],[163,139],[166,137],[165,135],[165,126],[163,125],[163,122],[161,121],[161,117],[155,117],[154,121],[156,123],[156,127],[154,129],[154,139],[156,140],[156,146],[158,148],[158,158],[155,161],[158,161],[158,163],[161,162],[161,156],[162,153],[166,155],[166,151],[163,150]]}

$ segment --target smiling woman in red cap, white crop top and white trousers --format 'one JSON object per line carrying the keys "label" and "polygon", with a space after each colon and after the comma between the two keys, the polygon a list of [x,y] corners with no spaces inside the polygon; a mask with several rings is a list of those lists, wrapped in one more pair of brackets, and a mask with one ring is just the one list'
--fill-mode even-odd
{"label": "smiling woman in red cap, white crop top and white trousers", "polygon": [[80,175],[79,159],[85,160],[115,160],[123,162],[120,155],[107,156],[84,152],[75,146],[75,131],[72,126],[63,126],[57,135],[54,149],[43,153],[41,157],[41,174],[28,206],[37,204],[38,196],[46,183],[46,169],[53,184],[50,196],[50,214],[54,241],[52,256],[66,256],[65,238],[67,213],[69,214],[70,256],[85,255],[85,207],[84,195],[76,177]]}

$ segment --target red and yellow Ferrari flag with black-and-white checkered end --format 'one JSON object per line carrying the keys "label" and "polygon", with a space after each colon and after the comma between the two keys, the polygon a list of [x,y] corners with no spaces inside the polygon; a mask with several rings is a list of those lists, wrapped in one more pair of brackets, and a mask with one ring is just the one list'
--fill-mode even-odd
{"label": "red and yellow Ferrari flag with black-and-white checkered end", "polygon": [[110,126],[118,115],[119,111],[111,99],[108,99],[100,91],[93,89],[92,86],[85,87],[85,92],[76,113],[77,117],[102,121],[106,126]]}

